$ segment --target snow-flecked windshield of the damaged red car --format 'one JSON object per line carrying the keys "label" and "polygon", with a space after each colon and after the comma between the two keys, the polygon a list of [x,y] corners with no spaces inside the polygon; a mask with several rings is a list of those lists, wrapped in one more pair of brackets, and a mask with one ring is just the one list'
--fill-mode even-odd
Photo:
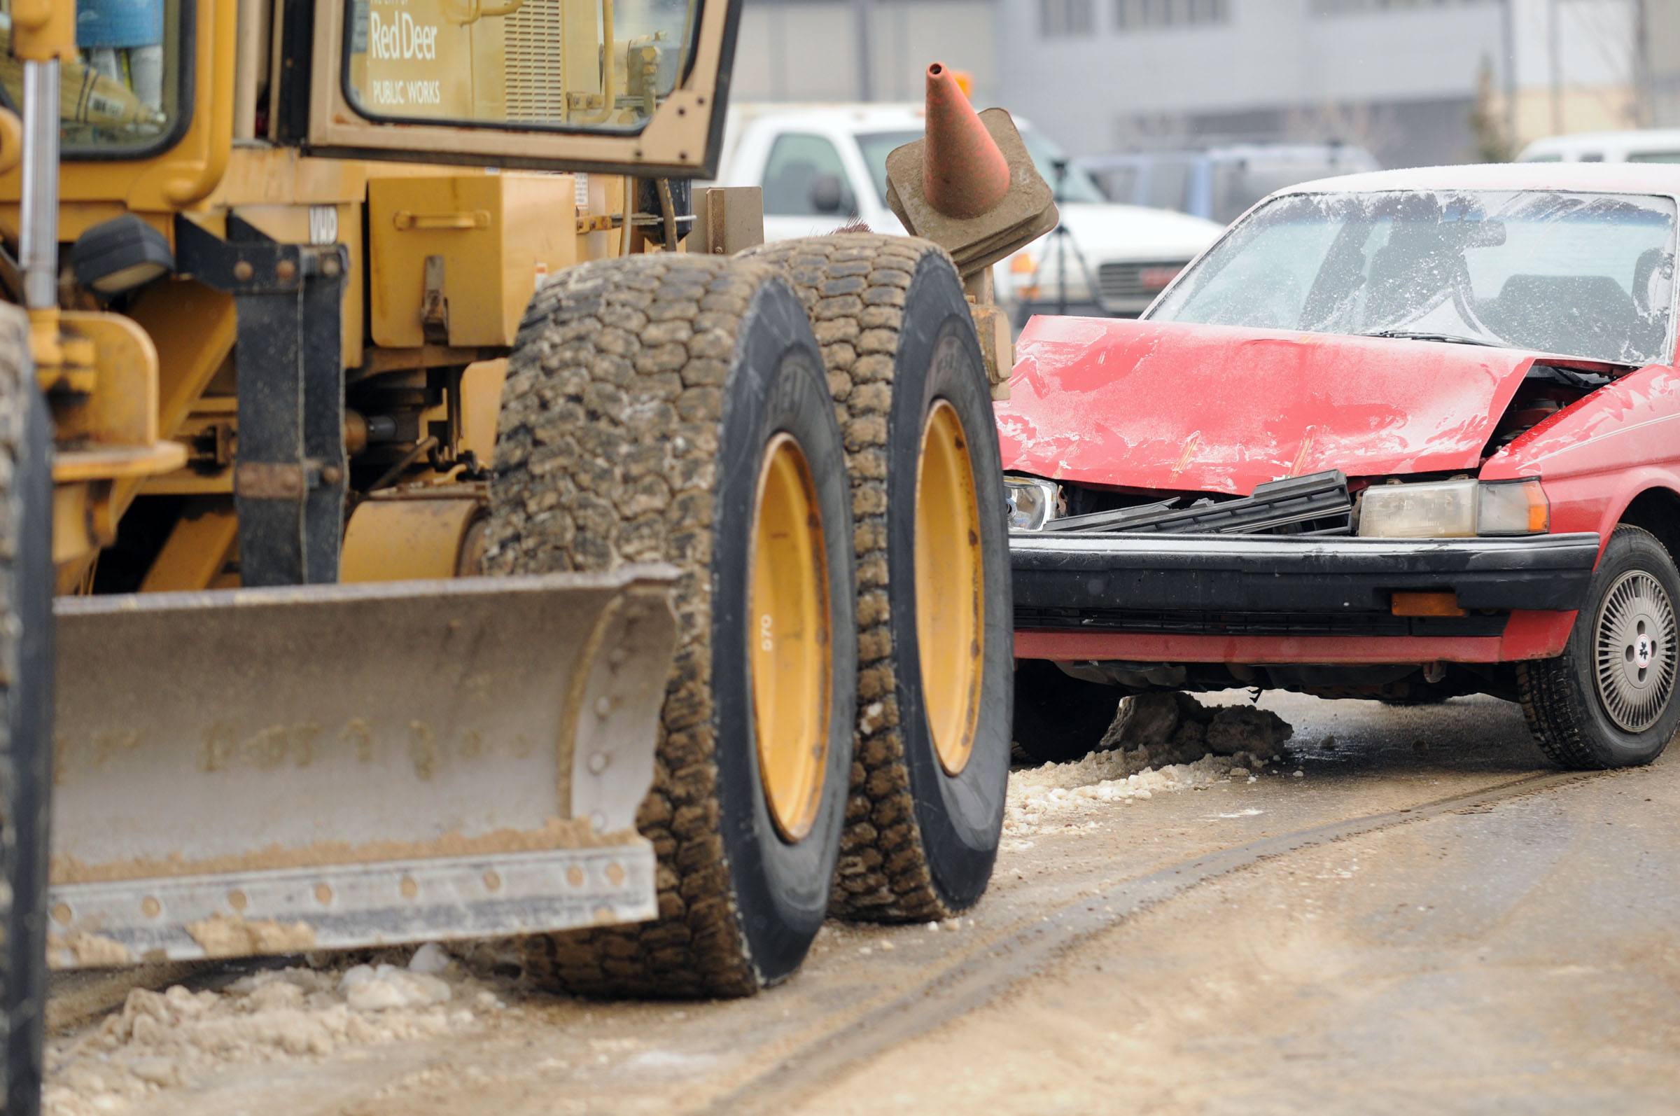
{"label": "snow-flecked windshield of the damaged red car", "polygon": [[1675,203],[1562,192],[1302,193],[1240,222],[1147,314],[1667,361]]}

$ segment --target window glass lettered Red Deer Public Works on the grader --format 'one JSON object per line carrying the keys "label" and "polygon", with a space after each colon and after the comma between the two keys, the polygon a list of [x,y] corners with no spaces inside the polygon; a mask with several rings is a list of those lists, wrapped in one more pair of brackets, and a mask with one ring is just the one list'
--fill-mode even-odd
{"label": "window glass lettered Red Deer Public Works on the grader", "polygon": [[368,119],[640,131],[687,69],[699,0],[353,0]]}

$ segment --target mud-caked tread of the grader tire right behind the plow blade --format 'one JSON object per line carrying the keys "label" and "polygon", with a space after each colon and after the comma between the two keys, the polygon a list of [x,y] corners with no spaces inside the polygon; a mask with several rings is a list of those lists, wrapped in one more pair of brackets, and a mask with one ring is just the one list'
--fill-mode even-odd
{"label": "mud-caked tread of the grader tire right behind the plow blade", "polygon": [[721,832],[712,523],[726,382],[764,264],[630,257],[538,291],[507,365],[487,573],[669,561],[679,644],[654,788],[657,921],[528,940],[526,971],[590,995],[748,995],[751,956]]}

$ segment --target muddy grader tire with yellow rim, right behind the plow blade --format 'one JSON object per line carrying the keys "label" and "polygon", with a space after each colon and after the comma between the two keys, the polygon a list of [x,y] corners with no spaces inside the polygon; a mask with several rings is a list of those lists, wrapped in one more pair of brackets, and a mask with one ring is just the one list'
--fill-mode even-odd
{"label": "muddy grader tire with yellow rim, right behind the plow blade", "polygon": [[[601,261],[533,299],[502,395],[489,571],[682,570],[654,790],[637,817],[659,852],[659,919],[529,940],[538,982],[746,995],[805,958],[838,855],[855,719],[842,452],[810,324],[763,264]],[[766,608],[754,592],[793,605]],[[769,624],[800,602],[810,624]]]}

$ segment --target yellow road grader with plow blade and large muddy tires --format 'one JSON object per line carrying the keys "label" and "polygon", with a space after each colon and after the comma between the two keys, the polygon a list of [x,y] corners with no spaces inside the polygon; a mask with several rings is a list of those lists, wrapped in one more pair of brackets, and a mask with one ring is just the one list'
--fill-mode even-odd
{"label": "yellow road grader with plow blade and large muddy tires", "polygon": [[964,103],[1001,198],[894,171],[931,239],[754,245],[690,187],[738,17],[0,2],[7,1111],[44,960],[519,938],[743,995],[981,896],[986,266],[1048,195]]}

